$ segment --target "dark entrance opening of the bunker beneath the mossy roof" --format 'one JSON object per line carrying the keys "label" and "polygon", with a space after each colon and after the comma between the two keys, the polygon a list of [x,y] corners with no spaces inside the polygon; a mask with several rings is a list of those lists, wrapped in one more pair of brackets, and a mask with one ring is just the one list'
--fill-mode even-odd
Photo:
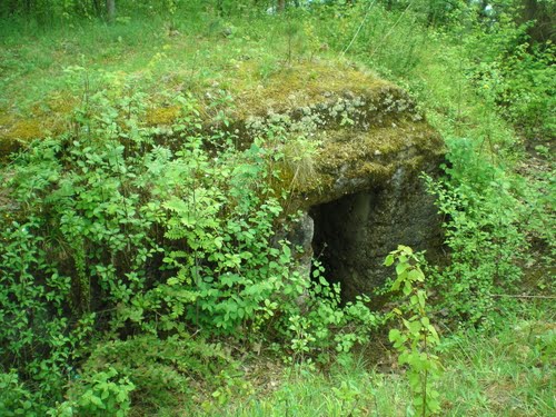
{"label": "dark entrance opening of the bunker beneath the mossy roof", "polygon": [[309,210],[314,256],[326,268],[327,280],[340,284],[344,301],[371,296],[385,282],[391,271],[384,259],[398,245],[420,246],[410,209],[391,190],[375,188]]}

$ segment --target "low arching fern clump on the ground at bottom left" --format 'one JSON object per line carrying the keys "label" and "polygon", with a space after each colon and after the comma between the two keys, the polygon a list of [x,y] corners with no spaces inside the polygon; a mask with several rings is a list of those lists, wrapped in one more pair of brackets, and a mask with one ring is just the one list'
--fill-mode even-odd
{"label": "low arching fern clump on the ground at bottom left", "polygon": [[116,415],[132,405],[142,414],[171,411],[191,398],[200,401],[201,390],[212,393],[226,384],[218,375],[237,373],[237,365],[217,344],[150,335],[107,341],[93,349],[71,381],[69,399],[58,409]]}

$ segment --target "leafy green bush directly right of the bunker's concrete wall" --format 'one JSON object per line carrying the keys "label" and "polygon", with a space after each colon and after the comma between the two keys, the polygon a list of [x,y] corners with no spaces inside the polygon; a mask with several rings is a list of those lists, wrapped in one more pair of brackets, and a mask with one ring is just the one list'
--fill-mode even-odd
{"label": "leafy green bush directly right of the bunker's concrete wall", "polygon": [[527,260],[527,219],[532,206],[520,199],[518,177],[508,176],[457,140],[445,167],[449,178],[427,179],[445,216],[450,264],[435,277],[443,307],[466,325],[488,325],[510,307],[494,296],[512,291]]}

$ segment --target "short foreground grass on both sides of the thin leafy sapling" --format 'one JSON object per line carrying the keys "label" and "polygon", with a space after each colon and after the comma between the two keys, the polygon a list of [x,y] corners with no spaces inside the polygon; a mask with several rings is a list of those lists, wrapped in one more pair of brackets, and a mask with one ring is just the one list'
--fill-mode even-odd
{"label": "short foreground grass on both sides of the thin leafy sapling", "polygon": [[[443,416],[556,413],[556,326],[546,310],[549,306],[528,307],[525,316],[509,319],[497,331],[445,335],[440,353],[445,371],[438,384]],[[404,369],[386,350],[381,366],[376,359],[369,361],[369,354],[364,349],[344,357],[327,370],[307,364],[287,366],[262,356],[245,368],[242,378],[250,388],[239,397],[191,404],[187,410],[241,417],[406,416],[411,395]]]}

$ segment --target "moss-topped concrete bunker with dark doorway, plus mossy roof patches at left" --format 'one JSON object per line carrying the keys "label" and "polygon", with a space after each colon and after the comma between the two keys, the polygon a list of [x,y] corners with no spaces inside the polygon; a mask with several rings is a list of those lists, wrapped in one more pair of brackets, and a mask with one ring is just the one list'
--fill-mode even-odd
{"label": "moss-topped concrete bunker with dark doorway, plus mossy roof patches at left", "polygon": [[[287,215],[304,214],[289,240],[304,248],[297,262],[307,279],[314,255],[327,277],[341,282],[342,298],[353,299],[384,284],[390,274],[384,257],[398,245],[439,252],[440,221],[419,175],[439,173],[445,146],[411,97],[350,62],[291,64],[266,80],[258,78],[255,63],[241,63],[240,82],[229,83],[235,106],[228,116],[238,142],[247,147],[274,129],[285,132],[278,135],[284,147],[296,137],[318,143],[310,175],[292,188],[297,172],[284,169],[277,186],[292,191],[284,222]],[[175,110],[162,107],[146,125],[171,125]],[[209,111],[201,113],[207,129],[224,129]],[[57,125],[64,119],[59,116],[0,120],[0,160],[42,130],[63,127]],[[277,237],[290,232],[284,225],[276,228]]]}

